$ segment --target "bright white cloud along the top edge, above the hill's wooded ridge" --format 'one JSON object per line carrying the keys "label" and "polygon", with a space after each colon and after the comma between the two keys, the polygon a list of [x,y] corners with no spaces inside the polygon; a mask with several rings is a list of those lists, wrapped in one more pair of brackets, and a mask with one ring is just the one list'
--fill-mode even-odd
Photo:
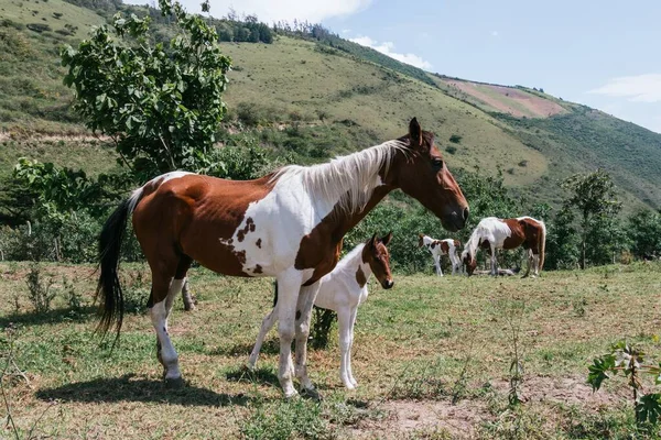
{"label": "bright white cloud along the top edge, above the hill's wooded ridge", "polygon": [[[128,3],[144,4],[151,0],[127,0]],[[180,0],[189,12],[201,12],[202,0]],[[350,15],[360,12],[372,0],[209,0],[214,16],[227,14],[234,8],[239,14],[256,14],[260,21],[273,23],[280,20],[307,20],[318,23],[324,19]]]}

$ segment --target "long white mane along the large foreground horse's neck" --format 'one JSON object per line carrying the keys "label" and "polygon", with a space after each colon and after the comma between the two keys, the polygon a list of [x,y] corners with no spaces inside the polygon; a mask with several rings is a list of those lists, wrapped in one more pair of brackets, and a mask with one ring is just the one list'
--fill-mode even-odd
{"label": "long white mane along the large foreground horse's neck", "polygon": [[398,151],[407,152],[402,141],[388,141],[347,156],[338,156],[325,164],[312,166],[289,165],[279,169],[271,182],[300,176],[305,189],[315,199],[339,205],[345,212],[365,208],[375,188],[381,167],[386,173]]}

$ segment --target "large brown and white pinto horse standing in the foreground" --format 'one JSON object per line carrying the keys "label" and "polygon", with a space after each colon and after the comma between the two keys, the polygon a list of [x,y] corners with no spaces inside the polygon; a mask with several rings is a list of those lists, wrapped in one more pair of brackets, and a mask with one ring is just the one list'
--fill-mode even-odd
{"label": "large brown and white pinto horse standing in the foreground", "polygon": [[[193,260],[220,274],[274,276],[279,285],[279,380],[294,396],[293,375],[314,391],[306,371],[306,343],[317,280],[333,271],[344,235],[388,193],[400,188],[441,219],[464,228],[468,205],[447,169],[434,135],[415,119],[395,141],[310,167],[286,166],[256,180],[225,180],[184,172],[159,176],[133,191],[107,220],[100,235],[100,330],[123,317],[118,277],[121,239],[129,215],[152,272],[149,311],[158,359],[169,382],[181,383],[167,316]],[[301,315],[301,286],[306,298]],[[290,369],[296,341],[295,367]],[[293,370],[293,371],[292,371]]]}

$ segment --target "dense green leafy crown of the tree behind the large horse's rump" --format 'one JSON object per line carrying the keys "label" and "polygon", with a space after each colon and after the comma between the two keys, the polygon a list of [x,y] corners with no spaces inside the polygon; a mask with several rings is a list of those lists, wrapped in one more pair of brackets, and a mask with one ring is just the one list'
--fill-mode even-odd
{"label": "dense green leafy crown of the tree behind the large horse's rump", "polygon": [[216,30],[176,1],[159,6],[178,28],[167,47],[150,44],[149,16],[118,13],[113,35],[100,26],[77,51],[68,46],[61,54],[75,110],[89,129],[116,140],[138,180],[196,169],[226,113],[221,96],[231,62],[220,53]]}

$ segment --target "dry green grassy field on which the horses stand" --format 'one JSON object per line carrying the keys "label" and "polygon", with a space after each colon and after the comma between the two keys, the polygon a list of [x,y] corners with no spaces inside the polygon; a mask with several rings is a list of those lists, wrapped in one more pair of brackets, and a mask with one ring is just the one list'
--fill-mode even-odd
{"label": "dry green grassy field on which the horses stand", "polygon": [[[652,363],[661,358],[660,270],[607,266],[539,279],[421,274],[395,276],[391,290],[372,283],[356,326],[359,387],[342,387],[334,334],[327,351],[310,353],[324,396],[317,403],[282,399],[274,333],[258,372],[242,370],[271,302],[268,279],[192,271],[198,309],[187,314],[177,302],[171,319],[187,386],[166,389],[143,314],[145,266],[122,267],[131,314],[111,352],[93,334],[93,267],[42,265],[57,296],[52,311],[36,314],[28,264],[3,263],[0,326],[18,326],[15,362],[29,380],[9,376],[4,387],[22,436],[36,425],[36,438],[655,438],[636,430],[621,377],[596,394],[585,377],[592,359],[620,339]],[[71,307],[72,295],[80,307]],[[524,403],[511,410],[513,334]],[[2,429],[0,437],[12,438]]]}

